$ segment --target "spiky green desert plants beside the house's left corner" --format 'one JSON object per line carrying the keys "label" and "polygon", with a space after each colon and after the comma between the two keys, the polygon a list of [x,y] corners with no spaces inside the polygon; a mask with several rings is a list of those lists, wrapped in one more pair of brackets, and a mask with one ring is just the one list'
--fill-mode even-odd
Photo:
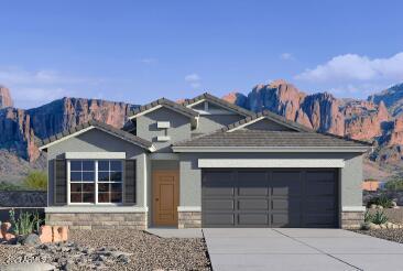
{"label": "spiky green desert plants beside the house's left corner", "polygon": [[39,232],[41,225],[44,223],[44,219],[40,217],[37,212],[21,212],[19,216],[17,216],[14,209],[11,209],[9,216],[12,230],[15,235]]}

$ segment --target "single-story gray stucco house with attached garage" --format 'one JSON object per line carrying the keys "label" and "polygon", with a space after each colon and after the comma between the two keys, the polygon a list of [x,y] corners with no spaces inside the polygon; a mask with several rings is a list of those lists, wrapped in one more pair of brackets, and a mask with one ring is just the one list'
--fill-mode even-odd
{"label": "single-story gray stucco house with attached garage", "polygon": [[141,106],[122,129],[89,121],[40,149],[50,225],[339,228],[363,217],[369,144],[209,94]]}

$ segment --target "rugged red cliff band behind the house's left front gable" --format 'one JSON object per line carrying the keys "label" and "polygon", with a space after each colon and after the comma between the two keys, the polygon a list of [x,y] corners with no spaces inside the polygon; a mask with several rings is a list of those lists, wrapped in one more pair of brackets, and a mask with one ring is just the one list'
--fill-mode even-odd
{"label": "rugged red cliff band behind the house's left front gable", "polygon": [[63,98],[29,110],[1,109],[0,149],[34,162],[41,155],[35,138],[51,137],[90,119],[120,128],[135,107],[99,99]]}

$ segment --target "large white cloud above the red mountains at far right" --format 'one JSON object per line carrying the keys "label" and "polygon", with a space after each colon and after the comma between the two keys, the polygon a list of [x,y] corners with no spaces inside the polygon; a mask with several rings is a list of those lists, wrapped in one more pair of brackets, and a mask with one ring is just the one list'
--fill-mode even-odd
{"label": "large white cloud above the red mountains at far right", "polygon": [[403,52],[389,58],[370,58],[357,54],[333,57],[325,64],[295,76],[315,83],[403,80]]}

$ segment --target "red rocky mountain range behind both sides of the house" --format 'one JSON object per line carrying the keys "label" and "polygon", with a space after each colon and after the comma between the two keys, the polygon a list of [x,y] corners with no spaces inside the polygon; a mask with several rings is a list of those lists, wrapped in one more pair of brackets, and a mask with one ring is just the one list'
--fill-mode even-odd
{"label": "red rocky mountain range behind both sides of the house", "polygon": [[[366,158],[366,176],[403,174],[403,84],[367,100],[337,99],[329,93],[305,94],[285,80],[224,98],[252,111],[268,109],[320,132],[374,142],[374,152]],[[0,87],[0,182],[15,182],[30,169],[45,166],[35,138],[47,138],[90,119],[120,128],[138,107],[83,98],[62,98],[28,110],[12,105],[10,90]]]}

